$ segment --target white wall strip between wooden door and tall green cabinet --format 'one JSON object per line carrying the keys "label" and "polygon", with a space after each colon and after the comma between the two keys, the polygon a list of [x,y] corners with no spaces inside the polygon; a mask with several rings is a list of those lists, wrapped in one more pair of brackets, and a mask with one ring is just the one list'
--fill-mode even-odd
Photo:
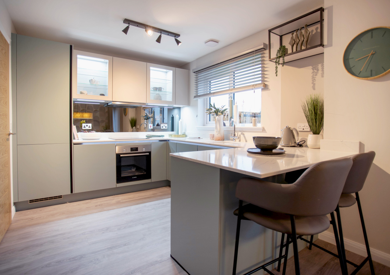
{"label": "white wall strip between wooden door and tall green cabinet", "polygon": [[[11,17],[9,16],[9,13],[7,11],[7,8],[5,7],[5,4],[3,0],[0,0],[0,32],[4,35],[5,39],[7,39],[9,46],[9,122],[10,122],[10,128],[12,130],[12,86],[11,86],[11,33],[16,33],[15,27],[12,24]],[[12,138],[10,138],[10,163],[12,163]],[[12,165],[11,165],[11,172],[10,172],[10,183],[11,183],[11,205],[12,205],[12,217],[15,213],[14,205],[14,198],[12,196],[13,194],[13,188],[12,188]]]}

